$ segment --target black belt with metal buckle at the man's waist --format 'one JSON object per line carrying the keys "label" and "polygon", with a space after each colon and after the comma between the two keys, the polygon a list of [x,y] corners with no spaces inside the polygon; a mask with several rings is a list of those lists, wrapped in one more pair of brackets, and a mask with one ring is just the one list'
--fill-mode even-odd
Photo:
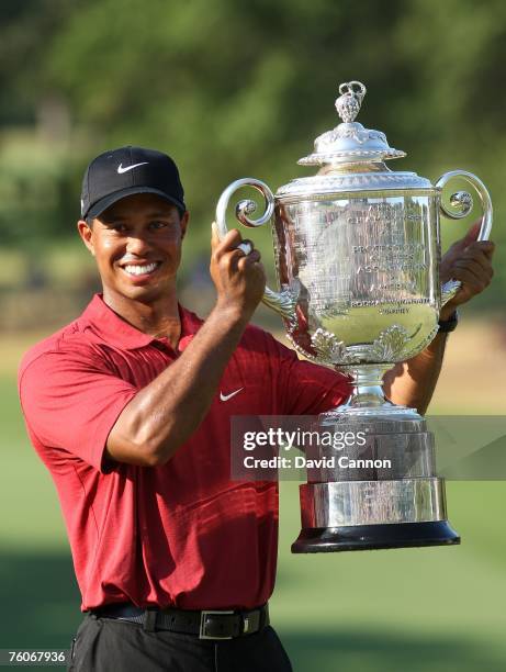
{"label": "black belt with metal buckle at the man's waist", "polygon": [[[269,606],[250,611],[143,609],[133,604],[108,604],[91,613],[98,618],[119,618],[145,626],[148,630],[171,630],[196,635],[199,639],[232,639],[252,635],[269,625]],[[146,625],[148,627],[146,627]]]}

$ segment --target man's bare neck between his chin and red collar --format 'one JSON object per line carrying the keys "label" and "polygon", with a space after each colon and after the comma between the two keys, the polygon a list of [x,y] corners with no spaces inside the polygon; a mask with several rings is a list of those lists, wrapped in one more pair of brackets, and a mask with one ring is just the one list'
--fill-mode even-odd
{"label": "man's bare neck between his chin and red collar", "polygon": [[103,301],[132,326],[157,338],[165,336],[170,345],[177,348],[181,335],[181,320],[176,292],[153,303],[145,303],[103,288]]}

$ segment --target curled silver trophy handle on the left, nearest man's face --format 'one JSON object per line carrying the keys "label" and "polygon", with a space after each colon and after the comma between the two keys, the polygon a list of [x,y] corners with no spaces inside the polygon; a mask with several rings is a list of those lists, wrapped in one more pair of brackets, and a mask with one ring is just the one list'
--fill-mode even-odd
{"label": "curled silver trophy handle on the left, nearest man's face", "polygon": [[[224,238],[228,233],[226,225],[226,210],[228,206],[228,201],[241,187],[252,187],[263,195],[266,201],[266,212],[261,215],[261,217],[258,217],[258,220],[251,220],[248,215],[257,210],[257,204],[255,201],[250,200],[239,201],[235,209],[236,220],[248,228],[255,228],[256,226],[262,226],[272,217],[274,212],[274,197],[269,187],[265,182],[261,182],[255,178],[241,178],[240,180],[236,180],[235,182],[232,182],[232,184],[228,184],[217,202],[216,227],[220,238]],[[283,292],[274,292],[274,290],[266,287],[262,302],[279,313],[281,317],[284,317],[290,322],[294,322],[296,320],[295,301],[290,291],[286,290]]]}

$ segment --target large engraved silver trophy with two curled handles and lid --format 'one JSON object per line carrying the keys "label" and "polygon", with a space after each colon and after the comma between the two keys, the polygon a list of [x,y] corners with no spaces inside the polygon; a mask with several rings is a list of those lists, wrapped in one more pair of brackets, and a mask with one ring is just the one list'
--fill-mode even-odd
{"label": "large engraved silver trophy with two curled handles and lid", "polygon": [[[281,291],[266,288],[263,302],[283,317],[295,350],[352,378],[350,397],[321,415],[319,427],[367,437],[355,456],[364,468],[307,470],[300,489],[302,531],[292,551],[459,544],[447,520],[443,480],[436,477],[434,437],[415,408],[385,399],[382,382],[396,362],[435,338],[440,309],[460,287],[439,282],[439,214],[459,220],[473,202],[459,191],[445,205],[443,187],[452,178],[474,187],[483,209],[480,240],[490,235],[491,199],[464,170],[447,172],[435,184],[415,172],[392,171],[385,160],[405,153],[355,121],[366,87],[351,81],[339,93],[342,123],[317,137],[314,153],[299,160],[319,166],[315,176],[291,180],[276,197],[263,182],[240,179],[216,208],[224,236],[228,202],[238,189],[254,187],[265,197],[257,220],[254,201],[240,201],[235,211],[247,227],[274,215]],[[306,453],[322,458],[335,450]],[[389,460],[392,467],[383,469]]]}

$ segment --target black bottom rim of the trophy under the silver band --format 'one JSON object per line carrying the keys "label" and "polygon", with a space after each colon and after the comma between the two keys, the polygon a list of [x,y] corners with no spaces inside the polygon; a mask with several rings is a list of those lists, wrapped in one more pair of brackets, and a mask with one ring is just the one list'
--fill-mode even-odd
{"label": "black bottom rim of the trophy under the silver band", "polygon": [[292,553],[331,553],[457,544],[460,544],[460,537],[448,520],[310,527],[304,528],[292,544]]}

